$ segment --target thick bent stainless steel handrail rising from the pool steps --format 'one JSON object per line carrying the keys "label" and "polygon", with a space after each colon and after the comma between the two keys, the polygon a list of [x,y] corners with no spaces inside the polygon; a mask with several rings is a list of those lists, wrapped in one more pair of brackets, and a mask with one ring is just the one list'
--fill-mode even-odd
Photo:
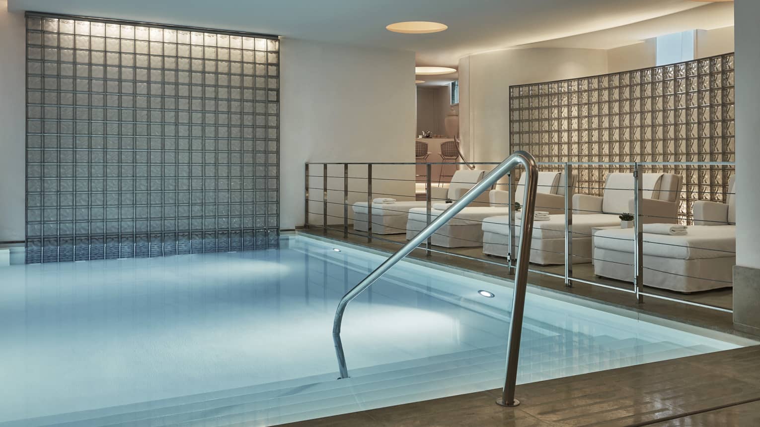
{"label": "thick bent stainless steel handrail rising from the pool steps", "polygon": [[[353,289],[349,290],[335,309],[335,319],[333,321],[333,341],[335,344],[335,354],[340,369],[340,378],[348,378],[348,368],[346,366],[346,356],[343,350],[343,343],[340,341],[340,325],[343,322],[343,315],[346,306],[354,298],[374,283],[378,278],[388,272],[397,262],[404,259],[420,243],[423,243],[428,237],[432,236],[443,224],[445,224],[454,215],[457,215],[465,206],[470,204],[480,193],[489,190],[496,181],[499,181],[505,174],[512,171],[516,166],[523,165],[526,172],[526,185],[524,190],[524,206],[522,217],[522,230],[520,234],[520,246],[518,248],[517,270],[515,272],[515,296],[512,299],[512,313],[510,322],[510,331],[507,341],[507,363],[504,388],[502,398],[497,403],[502,406],[514,407],[520,402],[515,399],[515,383],[518,374],[518,356],[520,353],[520,337],[522,333],[522,320],[525,306],[525,293],[527,287],[527,270],[528,259],[530,259],[530,240],[533,236],[533,217],[536,205],[536,191],[538,188],[538,166],[536,160],[530,153],[518,151],[510,155],[504,162],[501,162],[496,168],[489,172],[483,181],[477,183],[464,196],[461,196],[448,209],[446,209],[438,218],[435,218],[426,228],[423,228],[412,240],[409,240],[396,253],[385,260],[375,271],[369,273],[363,281],[360,281]],[[371,209],[371,205],[368,205]]]}

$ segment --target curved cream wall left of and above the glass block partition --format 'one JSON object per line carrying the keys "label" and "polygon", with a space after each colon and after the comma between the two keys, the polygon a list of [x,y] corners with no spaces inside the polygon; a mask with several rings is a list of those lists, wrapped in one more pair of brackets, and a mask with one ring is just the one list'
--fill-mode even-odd
{"label": "curved cream wall left of and above the glass block partition", "polygon": [[473,162],[509,155],[509,86],[607,72],[600,49],[507,49],[459,60],[462,149]]}

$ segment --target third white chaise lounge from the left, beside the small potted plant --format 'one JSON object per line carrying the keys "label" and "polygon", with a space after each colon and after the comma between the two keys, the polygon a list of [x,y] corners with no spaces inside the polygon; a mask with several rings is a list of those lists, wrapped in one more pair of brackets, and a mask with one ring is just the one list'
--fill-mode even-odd
{"label": "third white chaise lounge from the left, beside the small potted plant", "polygon": [[[642,222],[675,223],[678,214],[681,177],[676,174],[644,174]],[[618,215],[634,211],[633,174],[611,173],[604,183],[603,196],[575,194],[572,197],[573,263],[591,262],[591,229],[620,224]],[[537,209],[538,210],[538,209]],[[520,237],[516,221],[515,245]],[[507,256],[509,217],[498,216],[483,221],[483,253]],[[565,263],[565,215],[549,215],[549,221],[534,221],[530,262]],[[596,255],[594,255],[596,257]]]}

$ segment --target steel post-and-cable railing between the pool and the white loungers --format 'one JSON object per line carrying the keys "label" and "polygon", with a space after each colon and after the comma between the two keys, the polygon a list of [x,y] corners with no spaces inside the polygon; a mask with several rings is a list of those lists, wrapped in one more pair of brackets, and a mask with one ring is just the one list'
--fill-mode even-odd
{"label": "steel post-and-cable railing between the pool and the white loungers", "polygon": [[[342,191],[343,197],[340,198],[340,203],[336,201],[330,202],[328,201],[327,192],[323,192],[321,190],[327,188],[326,179],[325,176],[328,175],[327,170],[325,169],[325,165],[329,165],[331,168],[335,168],[333,173],[329,176],[331,179],[334,180],[334,182],[337,182],[340,178],[343,179],[343,186],[339,188],[330,188],[331,191]],[[424,195],[416,195],[418,196],[418,199],[420,197],[423,197],[423,199],[426,201],[427,206],[427,212],[429,212],[429,215],[426,215],[427,221],[426,223],[429,224],[432,218],[432,215],[430,215],[431,209],[432,209],[432,198],[433,196],[431,194],[431,187],[432,187],[432,180],[430,179],[430,172],[431,167],[433,165],[452,165],[452,163],[442,163],[442,162],[425,162],[425,163],[416,163],[416,162],[309,162],[306,163],[306,194],[305,194],[305,209],[304,209],[304,226],[305,228],[322,228],[325,232],[325,234],[328,233],[328,230],[330,231],[343,231],[344,237],[352,236],[352,237],[362,237],[366,238],[368,243],[373,243],[373,241],[377,241],[377,243],[381,244],[389,244],[389,245],[403,245],[401,241],[398,241],[397,239],[387,238],[383,237],[383,234],[375,234],[369,229],[359,231],[359,230],[351,230],[350,229],[350,218],[347,215],[345,206],[347,202],[347,196],[346,192],[349,193],[355,193],[360,194],[358,198],[356,196],[353,197],[353,201],[356,201],[357,199],[361,199],[363,197],[366,197],[366,203],[367,206],[371,206],[372,204],[372,193],[377,191],[378,194],[382,196],[391,196],[391,197],[401,197],[401,198],[408,198],[415,196],[414,194],[404,193],[405,190],[390,190],[388,189],[389,183],[398,183],[398,182],[405,182],[405,181],[415,181],[416,183],[422,184],[425,182],[426,191]],[[464,163],[454,163],[453,165],[459,165],[459,166],[465,166]],[[477,166],[487,166],[487,167],[493,167],[496,165],[499,165],[498,162],[471,162],[470,165],[477,165]],[[543,275],[549,278],[555,278],[560,279],[565,282],[565,285],[567,287],[572,287],[574,284],[584,284],[584,285],[591,285],[594,287],[600,287],[603,288],[605,291],[613,291],[613,292],[623,292],[625,294],[630,294],[633,298],[635,298],[635,301],[637,303],[643,303],[644,297],[652,298],[654,300],[665,300],[669,302],[674,303],[682,303],[686,304],[688,306],[693,306],[699,309],[710,309],[718,312],[727,312],[731,313],[733,312],[733,309],[731,308],[730,304],[721,303],[719,301],[714,302],[708,302],[704,299],[689,297],[688,295],[682,295],[682,294],[673,294],[669,293],[667,290],[648,290],[644,287],[645,281],[647,280],[645,277],[648,275],[646,273],[652,273],[652,272],[658,272],[663,273],[667,275],[671,275],[674,278],[682,277],[682,278],[695,278],[700,279],[704,277],[692,277],[689,275],[681,275],[676,272],[666,272],[666,271],[660,271],[657,268],[653,268],[648,265],[644,265],[644,244],[651,245],[653,244],[651,241],[644,240],[644,233],[641,227],[641,224],[643,224],[644,218],[649,218],[650,220],[652,218],[660,218],[657,216],[653,216],[651,214],[647,214],[644,212],[644,209],[642,209],[641,202],[644,199],[643,196],[643,190],[651,190],[651,188],[644,188],[644,184],[638,179],[641,177],[641,174],[648,171],[663,171],[668,173],[676,173],[676,174],[685,174],[689,171],[689,168],[692,170],[695,170],[695,168],[700,168],[703,172],[709,172],[710,179],[716,180],[719,177],[722,177],[720,182],[723,184],[722,190],[717,190],[716,187],[720,187],[721,184],[717,184],[716,182],[713,182],[709,184],[711,187],[711,193],[715,193],[718,195],[717,200],[726,200],[727,196],[733,195],[733,193],[730,193],[728,191],[728,177],[730,177],[731,174],[733,174],[733,171],[735,170],[735,163],[734,162],[719,162],[719,161],[704,161],[704,162],[538,162],[537,165],[540,166],[542,169],[546,169],[549,171],[564,171],[565,176],[571,176],[572,174],[578,174],[578,177],[581,177],[581,175],[585,174],[586,177],[584,178],[584,181],[581,181],[580,183],[576,182],[575,184],[570,184],[567,180],[564,181],[563,190],[565,193],[565,200],[564,200],[564,218],[565,218],[565,230],[564,230],[564,247],[559,252],[553,252],[551,250],[537,250],[534,249],[533,253],[555,253],[562,256],[563,262],[558,262],[558,265],[564,265],[565,268],[559,269],[553,269],[552,266],[549,265],[549,267],[546,267],[544,265],[535,265],[533,268],[529,268],[528,272],[534,273],[536,275]],[[315,171],[323,171],[322,174],[314,173],[309,174],[309,166],[314,168]],[[347,177],[345,170],[349,167],[364,167],[366,168],[367,174],[364,176],[352,176]],[[373,178],[373,171],[372,167],[375,166],[375,172],[374,172],[374,178]],[[380,170],[383,170],[383,168],[395,168],[399,166],[409,166],[409,167],[416,167],[416,168],[425,168],[426,174],[422,174],[419,172],[418,169],[418,176],[416,179],[404,179],[402,177],[397,176],[397,170],[394,170],[393,177],[387,177],[387,175],[378,174],[378,168]],[[342,171],[344,171],[343,174],[336,173],[337,167],[340,167]],[[592,172],[597,171],[599,174],[597,177],[592,176]],[[575,237],[591,237],[591,233],[581,231],[580,229],[576,229],[579,227],[576,227],[574,224],[574,217],[575,218],[582,218],[582,212],[581,210],[574,209],[572,206],[572,199],[571,196],[572,193],[578,192],[578,193],[591,193],[595,195],[601,195],[603,192],[601,191],[603,189],[603,181],[597,181],[598,177],[603,177],[603,172],[613,172],[613,171],[631,171],[635,174],[636,179],[634,180],[634,183],[632,187],[629,188],[621,188],[616,190],[632,190],[633,195],[636,199],[635,206],[632,206],[631,212],[635,216],[635,224],[639,223],[640,225],[637,227],[634,225],[634,240],[633,245],[635,246],[633,249],[634,256],[632,257],[631,261],[629,263],[626,262],[626,265],[629,265],[632,271],[631,278],[632,280],[627,281],[631,283],[631,286],[625,284],[626,281],[613,281],[610,279],[604,279],[599,278],[594,275],[590,275],[589,272],[587,272],[586,268],[583,268],[584,265],[593,265],[593,262],[596,261],[593,256],[584,256],[581,254],[578,254],[578,251],[574,251],[573,248],[573,239]],[[420,180],[420,177],[426,177],[424,180]],[[514,203],[513,195],[514,195],[514,187],[515,187],[515,174],[514,173],[508,173],[508,182],[496,184],[497,186],[504,186],[508,188],[508,203],[506,203],[506,206],[512,206]],[[309,179],[312,179],[314,183],[320,183],[322,187],[310,187],[309,186]],[[349,180],[356,180],[356,181],[366,181],[366,190],[361,189],[358,190],[358,187],[354,188],[354,190],[347,190],[349,188]],[[374,181],[374,185],[373,185]],[[701,181],[700,181],[701,182]],[[379,185],[378,185],[379,184]],[[596,185],[594,185],[596,184]],[[705,184],[707,185],[707,184]],[[702,194],[702,191],[700,190],[699,193],[697,193],[697,188],[702,187],[703,184],[699,184],[697,186],[695,183],[689,184],[689,182],[686,182],[685,184],[682,184],[682,187],[679,190],[681,193],[681,196],[679,196],[680,203],[682,204],[682,209],[677,213],[676,220],[681,221],[683,223],[689,224],[692,218],[689,216],[689,203],[694,202],[698,199],[708,199],[708,200],[715,200],[713,197],[705,197]],[[540,186],[539,186],[540,187]],[[309,190],[320,190],[320,191],[313,191],[314,194],[321,194],[321,198],[309,197]],[[571,191],[574,190],[574,191]],[[365,193],[366,191],[366,193]],[[390,193],[388,193],[390,192]],[[717,192],[717,193],[716,193]],[[440,196],[438,198],[435,198],[435,200],[438,200],[439,202],[443,201],[444,199],[441,199]],[[309,203],[312,203],[312,206],[320,206],[322,208],[321,212],[311,212],[309,210]],[[325,209],[325,206],[337,206],[340,205],[340,208],[343,209],[342,215],[333,215],[331,213],[328,213],[328,209]],[[502,204],[499,204],[502,205]],[[549,206],[545,206],[549,207]],[[536,209],[541,209],[542,206],[536,206]],[[550,207],[551,209],[554,208],[554,206]],[[378,210],[379,208],[376,208],[375,210]],[[382,209],[379,209],[382,211]],[[337,212],[337,211],[336,211]],[[574,213],[575,212],[575,213]],[[313,218],[319,218],[321,217],[321,224],[310,222],[309,221],[309,215],[313,215]],[[437,214],[436,214],[437,215]],[[580,215],[580,216],[577,216]],[[514,212],[513,212],[514,216]],[[335,223],[335,227],[332,227],[330,224],[328,224],[328,218],[339,218],[340,221],[342,221],[342,228],[340,228],[337,223]],[[672,217],[661,217],[663,220],[667,220],[670,222],[672,220]],[[514,218],[512,218],[514,220]],[[372,224],[382,224],[382,220],[379,222],[375,222],[375,219],[372,215],[372,209],[368,209],[367,212],[367,218],[365,218],[365,221],[367,223],[366,226],[371,227]],[[483,222],[483,221],[480,221]],[[391,227],[393,228],[393,227]],[[473,261],[477,263],[485,263],[489,265],[499,265],[499,266],[506,266],[508,268],[508,274],[511,275],[513,273],[513,264],[515,262],[515,256],[514,251],[512,250],[513,246],[515,246],[514,238],[516,236],[515,234],[515,221],[509,221],[509,226],[507,227],[507,243],[496,243],[499,245],[502,245],[506,248],[505,253],[503,255],[498,255],[499,257],[505,257],[506,261],[502,262],[496,259],[489,259],[483,256],[472,256],[470,254],[466,253],[460,253],[457,250],[446,250],[445,248],[436,248],[435,246],[432,246],[432,240],[431,237],[428,237],[426,242],[426,255],[430,256],[432,253],[439,253],[445,256],[454,256],[460,259],[466,259],[468,261]],[[582,229],[582,227],[580,227]],[[407,230],[406,228],[398,228],[399,233],[405,233]],[[390,233],[394,234],[394,233]],[[436,235],[440,234],[440,231],[437,231],[435,233]],[[482,244],[482,242],[479,242]],[[678,245],[670,245],[670,246],[678,246]],[[698,249],[700,250],[708,250],[711,251],[711,253],[721,253],[725,256],[733,256],[735,253],[733,251],[725,251],[725,250],[716,250],[711,249],[709,247],[700,246]],[[577,260],[577,262],[574,262],[574,260]],[[591,264],[590,264],[591,262]],[[622,264],[622,262],[617,262],[618,264]],[[578,264],[578,265],[575,265]],[[574,268],[578,267],[578,270],[580,271],[578,274],[574,273]],[[716,279],[716,278],[705,278],[705,280],[711,281],[713,283],[720,283],[724,282],[723,280]],[[727,287],[730,287],[731,282],[725,281],[725,284]],[[606,300],[604,297],[601,298],[602,300]]]}

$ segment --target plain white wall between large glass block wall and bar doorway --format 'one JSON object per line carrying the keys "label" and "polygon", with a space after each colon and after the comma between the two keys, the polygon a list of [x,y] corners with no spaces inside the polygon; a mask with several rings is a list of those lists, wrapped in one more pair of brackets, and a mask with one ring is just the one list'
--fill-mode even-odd
{"label": "plain white wall between large glass block wall and bar doorway", "polygon": [[[281,228],[303,224],[304,162],[414,162],[414,52],[282,39],[280,62]],[[352,166],[349,173],[365,176],[366,168]],[[342,177],[343,167],[331,167],[328,175]],[[373,177],[409,180],[375,181],[375,193],[414,194],[413,168],[378,166]],[[310,181],[322,187],[321,178]],[[341,191],[328,199],[343,203],[343,187],[342,178],[331,178],[328,188]],[[350,189],[364,191],[366,181],[352,180]],[[310,198],[321,200],[321,190]],[[350,193],[350,201],[358,199],[366,196]],[[321,203],[309,210],[322,212]],[[328,213],[340,217],[343,206],[330,204]],[[321,218],[312,215],[310,222],[321,224]]]}

